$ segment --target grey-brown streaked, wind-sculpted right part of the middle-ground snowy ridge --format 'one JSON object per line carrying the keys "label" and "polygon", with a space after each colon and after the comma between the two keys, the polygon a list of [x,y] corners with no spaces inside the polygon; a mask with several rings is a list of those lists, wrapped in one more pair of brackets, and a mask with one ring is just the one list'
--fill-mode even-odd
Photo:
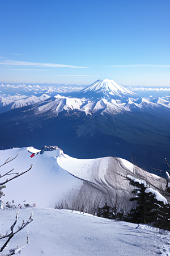
{"label": "grey-brown streaked, wind-sculpted right part of the middle-ground snowy ridge", "polygon": [[[107,157],[84,160],[62,155],[57,158],[57,163],[74,177],[87,181],[89,193],[94,191],[95,188],[105,198],[105,201],[111,201],[111,203],[118,197],[121,206],[124,205],[126,209],[131,206],[129,199],[133,189],[128,179],[126,179],[129,174],[134,176],[135,179],[137,177],[145,179],[145,182],[148,182],[154,189],[165,190],[165,179],[152,175],[125,159]],[[91,188],[89,185],[91,185]],[[84,190],[86,190],[86,183],[84,187]]]}

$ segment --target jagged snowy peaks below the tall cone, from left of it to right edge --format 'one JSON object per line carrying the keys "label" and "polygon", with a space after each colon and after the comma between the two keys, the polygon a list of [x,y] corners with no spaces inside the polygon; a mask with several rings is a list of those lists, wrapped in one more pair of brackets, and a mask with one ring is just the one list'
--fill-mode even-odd
{"label": "jagged snowy peaks below the tall cone, from left of it to right edge", "polygon": [[157,100],[156,103],[146,98],[133,99],[129,98],[125,101],[108,100],[105,98],[98,99],[96,101],[88,100],[85,98],[70,98],[65,96],[54,96],[48,98],[48,100],[41,102],[41,106],[35,105],[35,114],[48,115],[48,117],[54,117],[64,110],[69,114],[70,112],[85,112],[86,115],[96,114],[109,114],[111,116],[118,113],[126,112],[149,112],[159,113],[164,110],[170,110],[170,102]]}

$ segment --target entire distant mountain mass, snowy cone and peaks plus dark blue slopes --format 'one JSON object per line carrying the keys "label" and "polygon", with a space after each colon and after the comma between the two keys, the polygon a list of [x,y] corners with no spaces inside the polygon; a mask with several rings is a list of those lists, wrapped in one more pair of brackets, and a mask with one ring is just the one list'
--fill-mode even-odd
{"label": "entire distant mountain mass, snowy cone and peaks plus dark blue slopes", "polygon": [[152,168],[167,170],[168,96],[139,98],[113,80],[97,80],[74,97],[1,96],[0,113],[3,148],[56,144],[75,158],[132,157],[155,174]]}

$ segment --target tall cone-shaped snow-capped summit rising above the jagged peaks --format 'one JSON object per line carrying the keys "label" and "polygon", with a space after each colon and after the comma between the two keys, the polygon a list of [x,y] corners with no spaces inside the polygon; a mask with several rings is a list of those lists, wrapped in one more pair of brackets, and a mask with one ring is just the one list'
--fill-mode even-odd
{"label": "tall cone-shaped snow-capped summit rising above the jagged peaks", "polygon": [[90,86],[80,90],[78,94],[91,98],[126,98],[129,96],[135,96],[134,92],[124,88],[123,86],[117,84],[117,82],[109,79],[97,80]]}

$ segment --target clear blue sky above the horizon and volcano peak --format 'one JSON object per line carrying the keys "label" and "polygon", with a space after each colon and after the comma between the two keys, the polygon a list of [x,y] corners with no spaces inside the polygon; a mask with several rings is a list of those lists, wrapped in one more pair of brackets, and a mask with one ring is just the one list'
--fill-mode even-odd
{"label": "clear blue sky above the horizon and volcano peak", "polygon": [[1,0],[0,82],[170,86],[169,0]]}

